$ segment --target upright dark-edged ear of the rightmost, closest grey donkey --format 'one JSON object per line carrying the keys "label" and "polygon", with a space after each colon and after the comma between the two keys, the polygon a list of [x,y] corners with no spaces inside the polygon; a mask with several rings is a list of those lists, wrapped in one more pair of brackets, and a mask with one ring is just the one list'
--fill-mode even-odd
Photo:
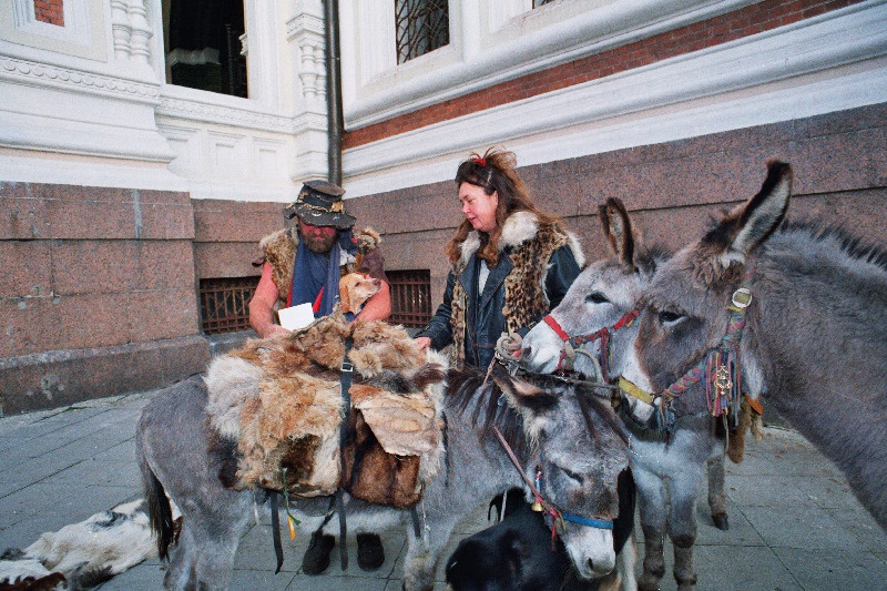
{"label": "upright dark-edged ear of the rightmost, closest grey donkey", "polygon": [[733,261],[744,263],[769,235],[779,227],[788,208],[792,194],[792,166],[785,162],[767,163],[767,177],[761,191],[740,205],[704,238],[720,247],[721,265],[726,268]]}

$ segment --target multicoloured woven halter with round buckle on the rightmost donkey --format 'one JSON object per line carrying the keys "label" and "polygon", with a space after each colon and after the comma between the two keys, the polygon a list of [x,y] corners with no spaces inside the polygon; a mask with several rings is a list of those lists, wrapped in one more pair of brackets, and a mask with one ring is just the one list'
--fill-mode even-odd
{"label": "multicoloured woven halter with round buckle on the rightmost donkey", "polygon": [[[743,278],[744,284],[751,284],[752,271],[753,264],[750,261]],[[751,303],[752,291],[748,287],[738,287],[733,292],[727,305],[727,310],[730,310],[727,328],[721,343],[706,350],[695,365],[660,394],[646,393],[623,377],[619,378],[620,388],[653,406],[656,406],[656,400],[661,398],[664,403],[659,405],[661,425],[664,425],[666,431],[672,432],[677,420],[672,410],[672,403],[704,379],[705,401],[712,416],[724,416],[733,408],[732,416],[736,420],[742,397],[740,342],[745,328],[745,312]]]}

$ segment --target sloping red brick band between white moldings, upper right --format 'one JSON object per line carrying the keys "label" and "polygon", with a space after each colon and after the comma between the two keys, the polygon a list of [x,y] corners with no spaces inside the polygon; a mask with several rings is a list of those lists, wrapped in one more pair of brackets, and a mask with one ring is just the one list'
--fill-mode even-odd
{"label": "sloping red brick band between white moldings, upper right", "polygon": [[485,109],[633,70],[809,19],[859,1],[861,0],[765,0],[642,41],[502,82],[388,121],[347,130],[343,139],[343,147],[345,150],[356,147]]}

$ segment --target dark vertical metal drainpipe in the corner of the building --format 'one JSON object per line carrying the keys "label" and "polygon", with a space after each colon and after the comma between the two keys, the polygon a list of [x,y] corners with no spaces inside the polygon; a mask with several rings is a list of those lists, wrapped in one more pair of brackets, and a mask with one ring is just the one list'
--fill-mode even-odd
{"label": "dark vertical metal drainpipe in the corner of the building", "polygon": [[341,185],[341,135],[344,121],[341,114],[341,52],[339,49],[339,2],[324,1],[326,23],[326,101],[329,149],[329,182]]}

